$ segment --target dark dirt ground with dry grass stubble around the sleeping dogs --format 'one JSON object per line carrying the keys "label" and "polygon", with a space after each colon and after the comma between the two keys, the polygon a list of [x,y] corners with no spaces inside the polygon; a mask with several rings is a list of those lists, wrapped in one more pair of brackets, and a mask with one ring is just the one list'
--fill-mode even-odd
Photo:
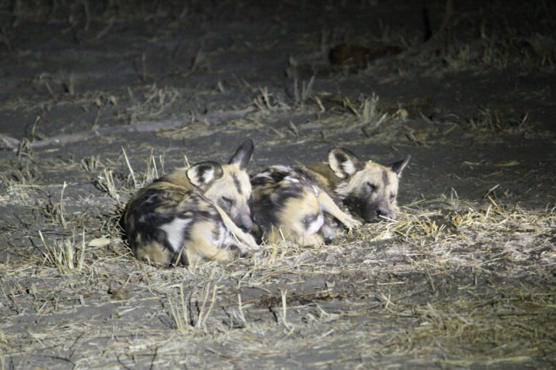
{"label": "dark dirt ground with dry grass stubble around the sleeping dogs", "polygon": [[[465,3],[2,2],[0,369],[556,367],[556,6]],[[129,196],[245,137],[411,154],[398,220],[133,258]]]}

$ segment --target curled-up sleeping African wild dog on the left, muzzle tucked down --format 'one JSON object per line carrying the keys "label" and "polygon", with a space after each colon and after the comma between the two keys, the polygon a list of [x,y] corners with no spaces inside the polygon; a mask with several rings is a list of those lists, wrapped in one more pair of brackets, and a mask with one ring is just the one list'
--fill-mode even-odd
{"label": "curled-up sleeping African wild dog on the left, muzzle tucked down", "polygon": [[254,150],[248,139],[227,165],[200,162],[142,188],[129,201],[124,226],[131,250],[156,264],[231,260],[256,249],[245,171]]}

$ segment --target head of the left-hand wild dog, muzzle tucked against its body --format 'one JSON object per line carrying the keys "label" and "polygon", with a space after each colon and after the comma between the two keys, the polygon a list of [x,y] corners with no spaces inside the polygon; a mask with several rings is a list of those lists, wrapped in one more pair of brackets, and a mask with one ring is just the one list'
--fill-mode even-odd
{"label": "head of the left-hand wild dog, muzzle tucked against its body", "polygon": [[251,183],[247,165],[253,155],[253,140],[243,142],[227,165],[200,162],[189,167],[187,177],[203,194],[229,215],[234,224],[245,232],[253,228],[250,212]]}

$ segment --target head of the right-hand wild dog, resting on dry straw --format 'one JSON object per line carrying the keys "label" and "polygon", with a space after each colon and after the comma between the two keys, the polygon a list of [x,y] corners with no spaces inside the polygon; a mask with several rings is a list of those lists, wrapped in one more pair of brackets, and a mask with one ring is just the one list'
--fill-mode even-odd
{"label": "head of the right-hand wild dog, resting on dry straw", "polygon": [[389,166],[362,161],[351,151],[334,148],[328,165],[339,178],[336,194],[352,212],[367,222],[395,219],[398,180],[411,155]]}

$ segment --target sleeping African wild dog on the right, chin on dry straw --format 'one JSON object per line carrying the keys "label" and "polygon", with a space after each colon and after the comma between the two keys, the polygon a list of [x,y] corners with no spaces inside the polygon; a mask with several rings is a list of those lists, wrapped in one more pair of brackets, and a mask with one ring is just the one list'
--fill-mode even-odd
{"label": "sleeping African wild dog on the right, chin on dry straw", "polygon": [[334,148],[328,162],[307,167],[272,166],[252,177],[255,233],[270,243],[282,237],[317,245],[347,228],[395,219],[398,180],[411,159],[382,166]]}

